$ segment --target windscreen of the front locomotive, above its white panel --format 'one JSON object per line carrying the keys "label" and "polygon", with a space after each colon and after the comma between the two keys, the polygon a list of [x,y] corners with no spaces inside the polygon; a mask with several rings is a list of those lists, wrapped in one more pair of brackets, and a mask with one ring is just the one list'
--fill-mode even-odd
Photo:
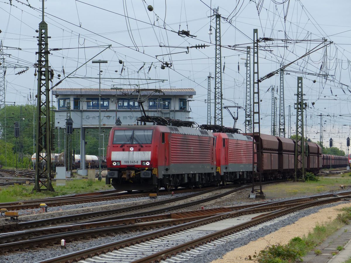
{"label": "windscreen of the front locomotive, above its white panel", "polygon": [[150,144],[152,130],[115,130],[113,144]]}

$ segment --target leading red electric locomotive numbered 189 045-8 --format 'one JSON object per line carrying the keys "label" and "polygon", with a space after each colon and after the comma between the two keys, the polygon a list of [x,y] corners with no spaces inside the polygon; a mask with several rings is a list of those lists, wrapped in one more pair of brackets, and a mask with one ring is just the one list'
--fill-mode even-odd
{"label": "leading red electric locomotive numbered 189 045-8", "polygon": [[106,184],[117,190],[166,190],[219,185],[214,136],[161,125],[114,126],[107,147]]}

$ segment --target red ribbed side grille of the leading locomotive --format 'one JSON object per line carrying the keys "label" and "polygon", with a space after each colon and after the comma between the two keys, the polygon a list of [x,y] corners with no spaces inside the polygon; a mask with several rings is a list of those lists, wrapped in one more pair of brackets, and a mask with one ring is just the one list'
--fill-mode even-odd
{"label": "red ribbed side grille of the leading locomotive", "polygon": [[171,137],[172,163],[210,163],[210,137]]}

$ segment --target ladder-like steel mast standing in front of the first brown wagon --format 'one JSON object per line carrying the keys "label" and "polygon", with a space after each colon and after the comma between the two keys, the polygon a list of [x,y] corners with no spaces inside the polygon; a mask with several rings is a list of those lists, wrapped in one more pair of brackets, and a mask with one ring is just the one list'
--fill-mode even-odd
{"label": "ladder-like steel mast standing in front of the first brown wagon", "polygon": [[[251,194],[258,193],[263,197],[261,178],[261,130],[260,130],[260,89],[258,76],[258,30],[253,29],[253,103],[252,103],[252,190]],[[257,167],[257,169],[256,169]],[[258,181],[258,184],[255,184]]]}

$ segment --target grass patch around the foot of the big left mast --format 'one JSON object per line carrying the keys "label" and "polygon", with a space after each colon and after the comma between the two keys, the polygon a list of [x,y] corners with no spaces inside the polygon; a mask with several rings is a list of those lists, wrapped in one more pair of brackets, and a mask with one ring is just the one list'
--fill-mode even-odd
{"label": "grass patch around the foot of the big left mast", "polygon": [[99,190],[110,190],[111,188],[105,184],[105,181],[88,181],[86,179],[75,179],[66,181],[66,186],[56,186],[53,182],[54,192],[42,191],[36,192],[33,190],[33,185],[18,185],[7,186],[0,188],[0,202],[13,202],[37,198],[55,197],[59,195],[81,194],[96,192]]}

